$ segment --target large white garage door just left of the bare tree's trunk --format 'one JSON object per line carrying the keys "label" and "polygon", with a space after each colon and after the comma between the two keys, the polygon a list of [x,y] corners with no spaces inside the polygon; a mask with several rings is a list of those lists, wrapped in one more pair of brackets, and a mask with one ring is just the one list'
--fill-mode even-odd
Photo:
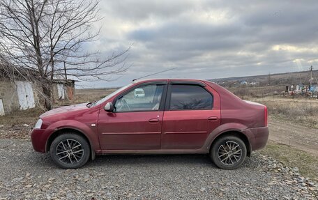
{"label": "large white garage door just left of the bare tree's trunk", "polygon": [[17,98],[19,99],[20,109],[36,107],[32,86],[29,82],[15,82],[17,85]]}

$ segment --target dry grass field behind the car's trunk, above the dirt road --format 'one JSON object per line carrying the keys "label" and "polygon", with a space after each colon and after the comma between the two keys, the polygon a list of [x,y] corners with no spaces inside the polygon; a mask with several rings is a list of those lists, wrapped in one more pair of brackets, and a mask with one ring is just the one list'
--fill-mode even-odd
{"label": "dry grass field behind the car's trunk, above the dirt road", "polygon": [[268,114],[275,120],[297,123],[318,128],[318,100],[306,98],[249,98],[268,108]]}

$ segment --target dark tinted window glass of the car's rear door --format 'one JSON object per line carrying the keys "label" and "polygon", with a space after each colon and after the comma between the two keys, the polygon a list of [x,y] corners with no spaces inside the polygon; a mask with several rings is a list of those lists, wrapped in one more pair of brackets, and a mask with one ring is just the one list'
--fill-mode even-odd
{"label": "dark tinted window glass of the car's rear door", "polygon": [[169,110],[212,109],[213,96],[201,86],[172,84]]}

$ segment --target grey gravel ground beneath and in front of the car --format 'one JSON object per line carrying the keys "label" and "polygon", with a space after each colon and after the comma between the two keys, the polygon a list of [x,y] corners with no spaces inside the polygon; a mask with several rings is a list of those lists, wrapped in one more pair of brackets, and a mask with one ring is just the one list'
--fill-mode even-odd
{"label": "grey gravel ground beneath and in front of the car", "polygon": [[0,199],[317,199],[298,169],[253,153],[221,170],[207,155],[104,155],[58,169],[29,138],[0,139]]}

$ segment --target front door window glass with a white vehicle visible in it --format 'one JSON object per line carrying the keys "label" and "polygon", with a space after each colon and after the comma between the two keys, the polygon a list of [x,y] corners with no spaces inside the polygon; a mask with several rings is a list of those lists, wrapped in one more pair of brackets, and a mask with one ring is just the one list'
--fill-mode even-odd
{"label": "front door window glass with a white vehicle visible in it", "polygon": [[156,111],[159,110],[164,85],[147,85],[132,89],[116,100],[115,109],[123,111]]}

